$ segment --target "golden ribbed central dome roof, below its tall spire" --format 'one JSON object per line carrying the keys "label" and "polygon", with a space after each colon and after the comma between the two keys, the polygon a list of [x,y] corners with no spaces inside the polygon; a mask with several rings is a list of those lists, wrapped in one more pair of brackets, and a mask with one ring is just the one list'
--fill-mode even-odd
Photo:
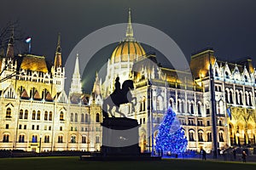
{"label": "golden ribbed central dome roof, below its tall spire", "polygon": [[113,50],[111,62],[132,62],[144,54],[145,51],[139,42],[125,40],[123,42],[119,42],[119,45]]}

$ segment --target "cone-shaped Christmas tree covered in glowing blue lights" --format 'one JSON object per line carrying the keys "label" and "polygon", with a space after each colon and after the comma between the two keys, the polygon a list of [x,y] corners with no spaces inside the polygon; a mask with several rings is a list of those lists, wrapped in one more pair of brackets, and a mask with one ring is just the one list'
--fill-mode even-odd
{"label": "cone-shaped Christmas tree covered in glowing blue lights", "polygon": [[166,112],[166,116],[160,124],[155,143],[155,149],[161,150],[164,154],[167,152],[180,154],[187,149],[188,140],[186,139],[176,114],[172,111],[171,107]]}

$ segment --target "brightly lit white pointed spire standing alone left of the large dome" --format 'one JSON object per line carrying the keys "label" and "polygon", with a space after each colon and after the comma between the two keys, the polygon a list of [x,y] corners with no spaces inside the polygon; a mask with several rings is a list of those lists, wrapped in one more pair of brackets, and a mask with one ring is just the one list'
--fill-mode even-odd
{"label": "brightly lit white pointed spire standing alone left of the large dome", "polygon": [[77,54],[77,59],[73,71],[73,77],[71,82],[71,88],[69,94],[83,94],[82,93],[82,83],[79,73],[79,54]]}

